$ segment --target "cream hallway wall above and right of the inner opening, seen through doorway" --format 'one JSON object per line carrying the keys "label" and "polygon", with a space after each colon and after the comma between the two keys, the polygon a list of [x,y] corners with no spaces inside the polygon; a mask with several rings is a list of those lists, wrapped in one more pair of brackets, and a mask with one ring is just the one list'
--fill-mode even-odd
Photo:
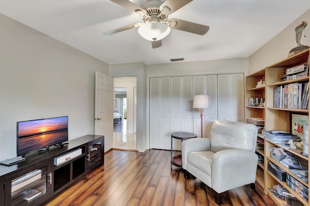
{"label": "cream hallway wall above and right of the inner opening, seen through doorway", "polygon": [[134,132],[134,87],[137,87],[137,77],[114,78],[114,88],[127,88],[127,133]]}

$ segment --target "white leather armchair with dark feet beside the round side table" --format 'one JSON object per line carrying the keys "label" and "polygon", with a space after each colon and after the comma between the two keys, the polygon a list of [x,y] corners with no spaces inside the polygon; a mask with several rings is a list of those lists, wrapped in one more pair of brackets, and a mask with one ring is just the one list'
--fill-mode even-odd
{"label": "white leather armchair with dark feet beside the round side table", "polygon": [[192,138],[182,142],[182,167],[220,193],[251,184],[255,190],[258,156],[255,154],[257,127],[242,122],[217,119],[210,138]]}

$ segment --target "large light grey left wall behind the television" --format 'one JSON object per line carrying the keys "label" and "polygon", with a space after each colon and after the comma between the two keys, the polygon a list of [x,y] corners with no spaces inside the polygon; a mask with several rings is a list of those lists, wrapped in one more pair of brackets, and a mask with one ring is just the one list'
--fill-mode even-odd
{"label": "large light grey left wall behind the television", "polygon": [[0,161],[16,157],[16,121],[69,116],[69,139],[93,134],[95,71],[109,65],[2,14],[0,25]]}

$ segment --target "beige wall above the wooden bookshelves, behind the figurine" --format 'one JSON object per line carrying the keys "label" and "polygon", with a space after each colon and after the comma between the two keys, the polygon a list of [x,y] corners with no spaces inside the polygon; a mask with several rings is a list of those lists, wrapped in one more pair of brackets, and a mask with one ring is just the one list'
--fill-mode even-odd
{"label": "beige wall above the wooden bookshelves, behind the figurine", "polygon": [[303,31],[300,42],[301,44],[310,46],[310,10],[308,10],[249,57],[248,74],[252,74],[255,71],[287,58],[289,51],[297,46],[295,28],[302,21],[308,22],[308,26],[304,30],[306,31],[306,37],[304,37]]}

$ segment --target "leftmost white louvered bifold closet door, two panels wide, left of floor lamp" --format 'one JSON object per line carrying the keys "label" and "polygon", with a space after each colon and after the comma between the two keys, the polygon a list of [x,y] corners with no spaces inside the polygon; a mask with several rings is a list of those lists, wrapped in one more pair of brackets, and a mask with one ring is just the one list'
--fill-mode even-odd
{"label": "leftmost white louvered bifold closet door, two panels wide, left of floor lamp", "polygon": [[171,148],[170,124],[170,77],[150,78],[150,148]]}

